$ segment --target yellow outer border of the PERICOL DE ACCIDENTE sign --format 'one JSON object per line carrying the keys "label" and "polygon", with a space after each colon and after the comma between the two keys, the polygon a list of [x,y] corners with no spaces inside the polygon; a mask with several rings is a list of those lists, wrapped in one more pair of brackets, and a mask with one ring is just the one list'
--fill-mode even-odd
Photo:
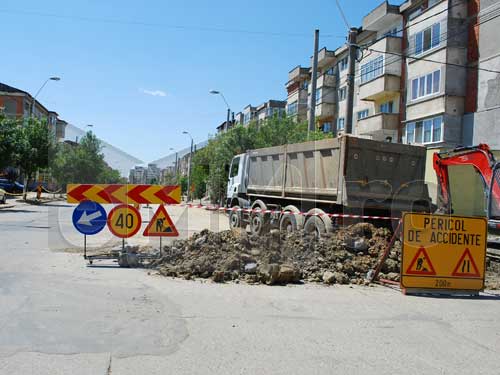
{"label": "yellow outer border of the PERICOL DE ACCIDENTE sign", "polygon": [[[474,219],[474,220],[480,220],[480,221],[483,221],[484,222],[484,229],[485,229],[485,233],[484,233],[484,239],[485,239],[485,247],[487,247],[487,240],[488,240],[488,220],[485,218],[485,217],[480,217],[480,216],[455,216],[455,215],[439,215],[439,214],[427,214],[427,213],[421,213],[421,212],[403,212],[403,217],[402,217],[402,226],[403,226],[403,230],[401,231],[401,267],[400,267],[400,275],[401,275],[401,281],[400,281],[400,285],[401,285],[401,288],[402,289],[432,289],[432,290],[435,290],[435,291],[439,291],[439,290],[446,290],[446,291],[453,291],[453,290],[458,290],[458,291],[480,291],[480,290],[483,290],[484,289],[484,284],[485,284],[485,277],[486,277],[486,254],[484,256],[484,265],[483,265],[483,275],[482,275],[482,278],[464,278],[464,277],[458,277],[458,276],[439,276],[438,275],[431,275],[431,276],[419,276],[419,275],[405,275],[405,272],[404,272],[404,254],[405,254],[405,238],[404,238],[404,235],[405,235],[405,227],[404,227],[404,224],[405,224],[405,219],[407,216],[409,215],[418,215],[418,216],[444,216],[444,217],[453,217],[453,218],[457,218],[457,219]],[[485,252],[486,252],[486,248],[485,248]],[[425,286],[405,286],[404,285],[404,281],[405,281],[405,278],[406,279],[427,279],[427,280],[430,280],[432,279],[433,281],[435,280],[441,280],[443,283],[441,283],[442,285],[440,286],[432,286],[432,285],[425,285]],[[478,281],[481,281],[481,287],[480,288],[477,288],[477,287],[465,287],[465,288],[452,288],[452,287],[446,287],[446,282],[448,280],[461,280],[462,282],[478,282]],[[431,283],[430,283],[431,284]]]}

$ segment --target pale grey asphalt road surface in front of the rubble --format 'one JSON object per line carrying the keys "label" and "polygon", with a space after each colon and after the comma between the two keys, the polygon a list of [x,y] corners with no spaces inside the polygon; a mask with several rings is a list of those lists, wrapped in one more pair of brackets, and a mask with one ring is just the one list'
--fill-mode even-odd
{"label": "pale grey asphalt road surface in front of the rubble", "polygon": [[[183,235],[227,225],[178,210]],[[219,285],[87,267],[60,251],[82,242],[70,217],[65,205],[0,210],[0,374],[500,371],[500,298],[491,293]]]}

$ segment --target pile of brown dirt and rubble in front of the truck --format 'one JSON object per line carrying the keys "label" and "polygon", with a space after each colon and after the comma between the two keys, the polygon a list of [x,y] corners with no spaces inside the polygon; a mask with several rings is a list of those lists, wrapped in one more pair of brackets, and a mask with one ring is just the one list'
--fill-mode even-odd
{"label": "pile of brown dirt and rubble in front of the truck", "polygon": [[[243,230],[204,230],[166,246],[150,267],[164,276],[211,278],[216,282],[286,284],[300,281],[363,284],[391,238],[387,228],[359,223],[327,237],[272,230],[252,236]],[[381,277],[399,280],[401,245],[396,242]]]}

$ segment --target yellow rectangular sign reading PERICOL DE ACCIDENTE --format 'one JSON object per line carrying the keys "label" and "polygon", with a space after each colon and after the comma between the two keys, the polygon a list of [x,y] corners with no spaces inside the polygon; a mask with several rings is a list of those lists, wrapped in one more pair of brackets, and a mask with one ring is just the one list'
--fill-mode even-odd
{"label": "yellow rectangular sign reading PERICOL DE ACCIDENTE", "polygon": [[479,217],[405,213],[401,287],[483,289],[487,228]]}

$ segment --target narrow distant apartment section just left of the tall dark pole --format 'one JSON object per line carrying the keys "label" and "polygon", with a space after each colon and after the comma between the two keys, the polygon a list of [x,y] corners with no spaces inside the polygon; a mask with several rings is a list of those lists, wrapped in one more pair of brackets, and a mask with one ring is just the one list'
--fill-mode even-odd
{"label": "narrow distant apartment section just left of the tall dark pole", "polygon": [[297,121],[307,120],[310,70],[311,68],[303,68],[299,65],[288,73],[286,114]]}

